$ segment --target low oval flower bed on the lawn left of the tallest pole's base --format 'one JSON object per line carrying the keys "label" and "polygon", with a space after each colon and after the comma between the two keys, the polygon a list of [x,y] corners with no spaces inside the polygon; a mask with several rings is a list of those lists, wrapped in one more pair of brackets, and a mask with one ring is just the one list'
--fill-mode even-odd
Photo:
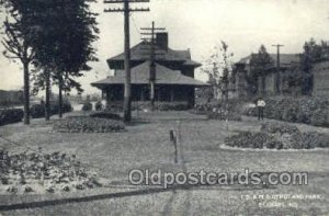
{"label": "low oval flower bed on the lawn left of the tallest pole's base", "polygon": [[121,121],[90,116],[72,116],[54,124],[54,130],[60,133],[112,133],[124,128]]}

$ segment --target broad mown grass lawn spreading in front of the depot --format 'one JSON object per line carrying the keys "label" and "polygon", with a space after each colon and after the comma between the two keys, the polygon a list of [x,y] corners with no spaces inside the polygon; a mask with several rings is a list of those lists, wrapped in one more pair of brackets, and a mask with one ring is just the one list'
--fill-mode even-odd
{"label": "broad mown grass lawn spreading in front of the depot", "polygon": [[[25,147],[45,152],[63,151],[95,170],[111,183],[81,192],[1,195],[0,215],[329,215],[329,151],[243,151],[223,149],[226,136],[240,130],[258,130],[252,117],[242,122],[208,121],[188,112],[134,113],[126,132],[109,134],[66,134],[53,132],[52,123],[34,120],[31,126],[0,127],[1,136],[23,147],[0,140],[0,147],[20,152]],[[169,130],[181,128],[180,159],[173,162]],[[329,133],[327,128],[297,125],[300,130]],[[309,184],[303,186],[185,186],[163,190],[133,186],[132,169],[167,171],[303,171]],[[1,192],[0,192],[1,194]],[[3,194],[3,193],[2,193]],[[247,195],[316,194],[317,200],[271,200],[284,207],[259,207],[264,200]],[[274,197],[274,196],[273,196]],[[24,203],[22,205],[22,203]],[[30,206],[30,207],[27,207]]]}

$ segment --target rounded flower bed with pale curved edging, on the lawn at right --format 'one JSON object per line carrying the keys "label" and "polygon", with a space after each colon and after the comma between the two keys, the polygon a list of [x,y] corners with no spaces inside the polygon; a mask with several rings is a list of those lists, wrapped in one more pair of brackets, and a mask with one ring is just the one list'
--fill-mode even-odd
{"label": "rounded flower bed with pale curved edging, on the lawn at right", "polygon": [[266,123],[262,125],[260,132],[241,132],[228,137],[225,144],[239,148],[329,148],[329,136],[317,132],[302,133],[296,126],[288,124]]}

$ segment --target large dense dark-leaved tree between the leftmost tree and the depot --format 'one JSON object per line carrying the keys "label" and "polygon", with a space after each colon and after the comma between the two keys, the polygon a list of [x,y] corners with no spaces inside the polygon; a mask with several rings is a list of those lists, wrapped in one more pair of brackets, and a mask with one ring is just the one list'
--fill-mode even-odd
{"label": "large dense dark-leaved tree between the leftmost tree and the depot", "polygon": [[[35,88],[46,89],[46,106],[49,98],[49,83],[58,86],[58,114],[61,117],[63,91],[71,89],[82,92],[81,84],[75,78],[82,70],[90,70],[88,61],[98,60],[92,43],[98,39],[95,16],[90,12],[89,3],[94,0],[44,0],[41,3],[39,32],[36,43],[38,67],[43,68]],[[47,20],[46,22],[44,20]],[[47,110],[47,109],[46,109]],[[47,113],[47,112],[46,112]],[[49,116],[46,115],[46,118]]]}

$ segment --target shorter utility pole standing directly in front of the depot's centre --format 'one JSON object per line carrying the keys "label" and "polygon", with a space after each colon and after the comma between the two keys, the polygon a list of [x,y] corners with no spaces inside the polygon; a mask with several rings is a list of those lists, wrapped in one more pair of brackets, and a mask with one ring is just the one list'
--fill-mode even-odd
{"label": "shorter utility pole standing directly in front of the depot's centre", "polygon": [[150,59],[150,65],[149,65],[149,84],[150,84],[150,104],[151,104],[151,110],[155,110],[155,98],[156,98],[156,33],[157,31],[164,31],[164,27],[156,27],[155,22],[152,22],[151,27],[140,27],[141,31],[148,31],[140,33],[141,35],[150,35],[150,38],[144,38],[144,39],[149,39],[150,41],[150,50],[149,50],[149,59]]}

